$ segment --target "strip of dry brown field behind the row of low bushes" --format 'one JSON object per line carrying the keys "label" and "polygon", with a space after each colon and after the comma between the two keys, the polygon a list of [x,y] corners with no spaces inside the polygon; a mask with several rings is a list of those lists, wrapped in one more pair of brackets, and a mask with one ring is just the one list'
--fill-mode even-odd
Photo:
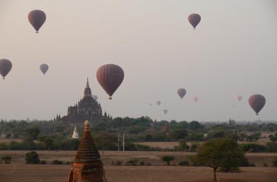
{"label": "strip of dry brown field behind the row of low bushes", "polygon": [[[0,156],[8,154],[12,156],[12,163],[25,163],[24,157],[25,153],[28,151],[10,151],[10,150],[2,150],[0,151]],[[75,156],[75,151],[37,151],[41,160],[44,160],[48,163],[51,161],[58,159],[64,162],[71,162]],[[129,160],[137,159],[138,161],[143,161],[144,163],[151,163],[151,165],[165,165],[163,161],[161,161],[161,156],[175,156],[175,161],[172,161],[173,165],[178,165],[180,161],[184,161],[184,156],[195,154],[195,152],[114,152],[114,151],[105,151],[104,157],[102,159],[105,165],[111,165],[111,161],[122,161],[125,164]],[[264,166],[267,164],[268,166],[272,166],[272,160],[274,156],[277,156],[277,153],[247,153],[247,158],[250,163],[254,163],[258,167]]]}

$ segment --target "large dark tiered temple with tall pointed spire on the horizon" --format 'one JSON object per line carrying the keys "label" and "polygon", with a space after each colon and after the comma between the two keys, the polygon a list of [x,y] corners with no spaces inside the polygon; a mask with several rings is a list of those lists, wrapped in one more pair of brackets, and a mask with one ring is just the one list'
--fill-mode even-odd
{"label": "large dark tiered temple with tall pointed spire on the horizon", "polygon": [[60,115],[54,121],[65,121],[67,123],[82,123],[84,121],[99,120],[102,115],[102,108],[100,103],[93,99],[91,88],[89,87],[89,79],[87,79],[87,86],[84,89],[84,97],[78,101],[77,104],[69,106],[67,115],[60,118]]}

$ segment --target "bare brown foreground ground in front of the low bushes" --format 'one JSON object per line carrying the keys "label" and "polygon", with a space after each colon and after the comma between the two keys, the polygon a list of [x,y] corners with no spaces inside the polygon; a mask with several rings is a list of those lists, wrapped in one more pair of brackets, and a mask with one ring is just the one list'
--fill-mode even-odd
{"label": "bare brown foreground ground in front of the low bushes", "polygon": [[[66,181],[70,165],[0,165],[0,181]],[[200,182],[211,181],[212,170],[206,167],[181,166],[105,166],[109,182]],[[274,182],[277,168],[242,168],[240,173],[218,173],[220,181]]]}

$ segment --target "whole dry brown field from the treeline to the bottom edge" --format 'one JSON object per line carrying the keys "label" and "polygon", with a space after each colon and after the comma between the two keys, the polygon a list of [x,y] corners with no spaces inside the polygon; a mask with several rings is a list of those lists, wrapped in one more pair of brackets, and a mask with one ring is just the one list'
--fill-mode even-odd
{"label": "whole dry brown field from the treeline to the bottom edge", "polygon": [[[27,151],[0,151],[0,156],[9,154],[12,156],[11,164],[0,164],[0,181],[5,182],[60,182],[66,181],[70,165],[27,165],[24,164],[24,154]],[[72,161],[75,151],[37,151],[40,159],[51,163],[54,159]],[[103,162],[108,181],[111,182],[185,182],[185,181],[211,181],[212,170],[206,167],[164,166],[160,157],[164,155],[175,156],[173,164],[184,159],[190,152],[105,152]],[[277,154],[249,153],[249,161],[271,163]],[[152,166],[117,166],[110,165],[111,161],[126,161],[138,159],[150,162]],[[159,165],[159,166],[153,166]],[[259,166],[259,165],[258,165]],[[218,173],[221,181],[276,181],[277,168],[254,167],[241,168],[240,173]]]}

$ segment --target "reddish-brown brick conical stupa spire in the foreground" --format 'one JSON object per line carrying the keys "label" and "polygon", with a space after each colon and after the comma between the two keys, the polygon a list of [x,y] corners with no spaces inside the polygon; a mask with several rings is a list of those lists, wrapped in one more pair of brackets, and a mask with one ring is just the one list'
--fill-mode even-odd
{"label": "reddish-brown brick conical stupa spire in the foreground", "polygon": [[86,121],[68,182],[104,182],[103,179],[103,164],[89,130],[89,121]]}

